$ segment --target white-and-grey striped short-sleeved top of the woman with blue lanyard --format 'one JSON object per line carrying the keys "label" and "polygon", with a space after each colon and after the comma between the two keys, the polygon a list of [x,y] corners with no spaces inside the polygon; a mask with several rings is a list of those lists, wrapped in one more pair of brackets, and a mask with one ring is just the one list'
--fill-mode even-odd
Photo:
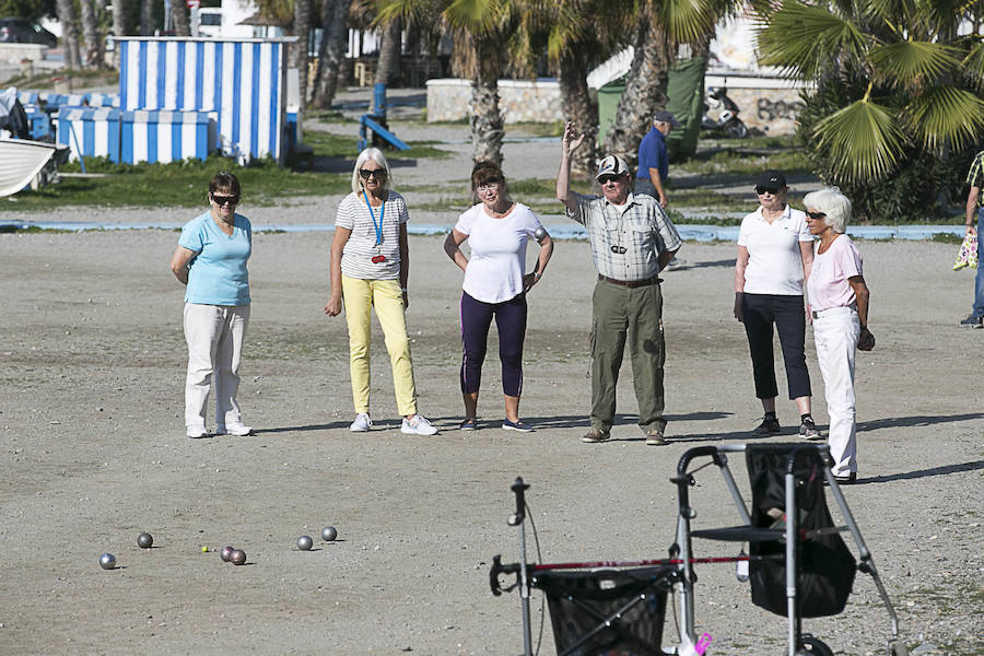
{"label": "white-and-grey striped short-sleeved top of the woman with blue lanyard", "polygon": [[[352,231],[342,249],[342,273],[361,280],[397,280],[400,277],[400,225],[410,220],[407,201],[390,189],[385,209],[378,207],[372,211],[376,215],[376,224],[380,216],[383,222],[383,243],[378,246],[373,216],[362,195],[349,194],[338,206],[335,226]],[[386,259],[374,262],[373,258],[377,255]]]}

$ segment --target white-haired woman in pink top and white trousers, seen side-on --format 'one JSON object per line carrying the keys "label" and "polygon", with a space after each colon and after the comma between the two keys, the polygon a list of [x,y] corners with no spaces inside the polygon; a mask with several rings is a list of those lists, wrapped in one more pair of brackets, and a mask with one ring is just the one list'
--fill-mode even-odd
{"label": "white-haired woman in pink top and white trousers, seen side-on", "polygon": [[855,349],[875,348],[875,336],[868,330],[868,286],[860,253],[844,234],[851,218],[847,197],[831,187],[807,194],[803,202],[810,233],[820,237],[807,292],[830,414],[827,441],[834,477],[839,483],[850,484],[857,480]]}

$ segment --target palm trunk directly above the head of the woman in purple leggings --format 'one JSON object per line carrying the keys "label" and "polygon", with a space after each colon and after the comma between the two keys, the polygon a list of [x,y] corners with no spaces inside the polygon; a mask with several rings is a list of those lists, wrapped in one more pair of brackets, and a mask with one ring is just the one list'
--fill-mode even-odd
{"label": "palm trunk directly above the head of the woman in purple leggings", "polygon": [[[502,44],[495,36],[471,37],[476,75],[471,80],[471,156],[478,162],[502,166],[502,140],[505,117],[499,106],[499,78],[502,74]],[[455,44],[458,47],[459,44]],[[464,44],[461,44],[464,45]]]}

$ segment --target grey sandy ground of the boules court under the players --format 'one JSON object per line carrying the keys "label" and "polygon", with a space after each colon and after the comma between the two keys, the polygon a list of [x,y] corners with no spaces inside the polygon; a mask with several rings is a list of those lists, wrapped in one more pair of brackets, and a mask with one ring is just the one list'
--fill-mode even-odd
{"label": "grey sandy ground of the boules court under the players", "polygon": [[[537,432],[496,427],[494,358],[482,429],[454,430],[460,276],[438,237],[412,237],[421,411],[442,433],[399,433],[376,339],[377,430],[352,434],[344,323],[323,312],[330,233],[267,233],[250,261],[239,394],[257,433],[191,441],[181,290],[167,269],[176,241],[155,230],[0,234],[0,653],[517,654],[518,598],[488,586],[494,554],[518,558],[505,523],[516,476],[532,485],[534,560],[659,558],[673,539],[679,457],[747,441],[761,411],[730,316],[735,246],[687,244],[690,267],[664,284],[671,444],[644,445],[628,363],[613,440],[582,444],[594,272],[587,245],[563,242],[530,295],[522,415]],[[860,248],[878,347],[858,358],[860,484],[845,494],[905,641],[921,654],[980,654],[984,412],[969,360],[984,331],[956,326],[972,277],[950,271],[952,246]],[[792,402],[780,417],[789,429],[772,441],[796,441]],[[698,481],[696,525],[735,523],[719,477]],[[338,541],[297,551],[298,536],[328,524]],[[153,549],[137,547],[142,531]],[[248,565],[222,563],[223,544],[245,549]],[[119,569],[98,567],[105,551]],[[730,566],[699,574],[711,653],[783,653],[782,619],[751,605]],[[806,628],[839,654],[876,654],[888,619],[859,575],[844,613]],[[671,620],[666,636],[676,640]],[[541,653],[553,653],[549,620]]]}

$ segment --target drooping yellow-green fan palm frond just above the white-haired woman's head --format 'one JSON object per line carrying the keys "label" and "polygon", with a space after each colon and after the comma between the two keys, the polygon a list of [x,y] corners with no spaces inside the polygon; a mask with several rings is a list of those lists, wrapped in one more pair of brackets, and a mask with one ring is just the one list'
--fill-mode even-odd
{"label": "drooping yellow-green fan palm frond just above the white-haired woman's head", "polygon": [[853,181],[887,175],[899,161],[905,136],[887,107],[862,98],[817,124],[813,138],[830,153],[835,177]]}

